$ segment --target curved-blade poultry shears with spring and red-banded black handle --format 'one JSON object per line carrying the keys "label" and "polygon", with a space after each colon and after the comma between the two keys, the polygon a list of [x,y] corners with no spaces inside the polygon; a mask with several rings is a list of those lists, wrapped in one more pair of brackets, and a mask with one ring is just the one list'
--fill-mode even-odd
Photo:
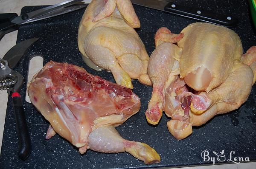
{"label": "curved-blade poultry shears with spring and red-banded black handle", "polygon": [[19,138],[18,155],[22,160],[26,160],[26,158],[29,157],[31,152],[31,141],[19,94],[24,78],[20,73],[12,70],[12,68],[15,68],[27,49],[37,40],[38,38],[33,38],[18,43],[5,54],[3,59],[0,59],[0,89],[7,90],[9,95],[12,94],[12,105]]}

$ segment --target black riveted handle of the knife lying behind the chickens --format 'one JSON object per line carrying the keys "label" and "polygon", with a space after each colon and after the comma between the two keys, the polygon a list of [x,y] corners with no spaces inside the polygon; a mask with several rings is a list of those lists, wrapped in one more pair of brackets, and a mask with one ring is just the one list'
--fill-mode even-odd
{"label": "black riveted handle of the knife lying behind the chickens", "polygon": [[212,13],[212,11],[207,11],[194,7],[180,6],[172,2],[167,4],[164,10],[172,14],[177,14],[183,17],[189,17],[208,23],[214,23],[217,25],[223,25],[226,27],[233,27],[236,26],[236,24],[238,23],[238,19],[231,15],[214,14]]}

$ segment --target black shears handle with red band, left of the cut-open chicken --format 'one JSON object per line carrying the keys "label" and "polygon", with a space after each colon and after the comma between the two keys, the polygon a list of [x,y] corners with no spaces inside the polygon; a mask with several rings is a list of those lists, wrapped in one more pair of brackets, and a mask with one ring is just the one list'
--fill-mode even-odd
{"label": "black shears handle with red band, left of the cut-open chicken", "polygon": [[18,155],[21,160],[26,160],[31,152],[31,141],[29,138],[29,130],[26,124],[26,118],[20,94],[17,92],[12,93],[12,105],[14,109],[16,128],[19,137]]}

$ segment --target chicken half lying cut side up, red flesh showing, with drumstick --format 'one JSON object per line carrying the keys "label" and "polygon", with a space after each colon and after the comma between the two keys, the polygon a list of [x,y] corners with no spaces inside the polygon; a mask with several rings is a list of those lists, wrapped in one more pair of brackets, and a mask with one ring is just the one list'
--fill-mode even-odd
{"label": "chicken half lying cut side up, red flesh showing, with drumstick", "polygon": [[46,139],[57,132],[83,154],[129,152],[146,164],[160,156],[147,144],[123,139],[114,127],[140,110],[130,89],[67,63],[48,62],[28,87],[32,104],[50,122]]}

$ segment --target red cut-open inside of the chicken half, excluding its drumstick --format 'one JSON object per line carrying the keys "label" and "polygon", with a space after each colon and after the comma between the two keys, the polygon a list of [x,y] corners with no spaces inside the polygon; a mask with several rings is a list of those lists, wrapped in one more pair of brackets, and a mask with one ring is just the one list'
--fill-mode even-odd
{"label": "red cut-open inside of the chicken half, excluding its drumstick", "polygon": [[[118,126],[140,109],[140,99],[130,89],[67,63],[48,62],[28,89],[32,103],[53,129],[84,149],[95,123]],[[95,121],[113,114],[121,119]]]}

